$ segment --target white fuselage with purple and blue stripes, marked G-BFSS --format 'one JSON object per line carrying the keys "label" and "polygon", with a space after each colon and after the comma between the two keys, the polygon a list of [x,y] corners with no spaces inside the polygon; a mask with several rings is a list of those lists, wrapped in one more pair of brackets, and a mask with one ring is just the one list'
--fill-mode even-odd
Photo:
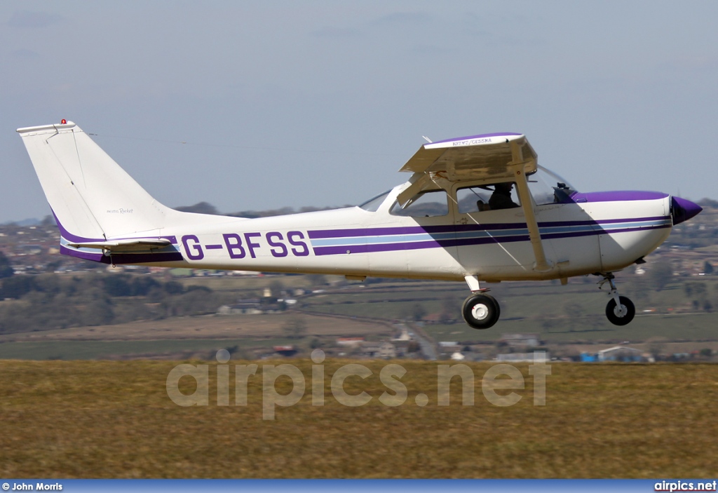
{"label": "white fuselage with purple and blue stripes, marked G-BFSS", "polygon": [[[518,281],[620,270],[661,245],[673,225],[671,197],[658,192],[575,194],[572,202],[538,205],[551,268],[537,271],[521,207],[460,213],[449,203],[447,215],[404,217],[389,212],[399,189],[375,212],[348,207],[256,219],[197,215],[192,227],[121,237],[172,242],[154,253],[108,256],[67,245],[62,252],[115,264]],[[77,240],[67,234],[63,240]]]}

